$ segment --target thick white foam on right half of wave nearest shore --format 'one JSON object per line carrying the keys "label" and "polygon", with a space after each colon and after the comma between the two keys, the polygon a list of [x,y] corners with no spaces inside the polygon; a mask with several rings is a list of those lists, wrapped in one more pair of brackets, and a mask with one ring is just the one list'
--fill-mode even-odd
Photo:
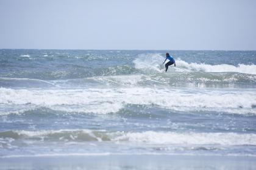
{"label": "thick white foam on right half of wave nearest shore", "polygon": [[113,141],[132,141],[151,144],[221,144],[256,145],[256,134],[236,133],[177,133],[177,132],[118,132]]}

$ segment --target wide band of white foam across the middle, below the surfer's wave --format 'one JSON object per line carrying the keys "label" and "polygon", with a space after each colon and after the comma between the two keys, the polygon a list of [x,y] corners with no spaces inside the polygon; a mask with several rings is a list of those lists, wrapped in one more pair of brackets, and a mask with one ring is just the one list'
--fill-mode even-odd
{"label": "wide band of white foam across the middle, below the surfer's wave", "polygon": [[[49,107],[69,112],[107,114],[126,104],[146,104],[174,110],[217,110],[256,114],[254,90],[154,89],[142,87],[80,90],[14,90],[0,88],[0,104]],[[13,105],[14,104],[14,105]],[[24,108],[23,108],[24,109]]]}

